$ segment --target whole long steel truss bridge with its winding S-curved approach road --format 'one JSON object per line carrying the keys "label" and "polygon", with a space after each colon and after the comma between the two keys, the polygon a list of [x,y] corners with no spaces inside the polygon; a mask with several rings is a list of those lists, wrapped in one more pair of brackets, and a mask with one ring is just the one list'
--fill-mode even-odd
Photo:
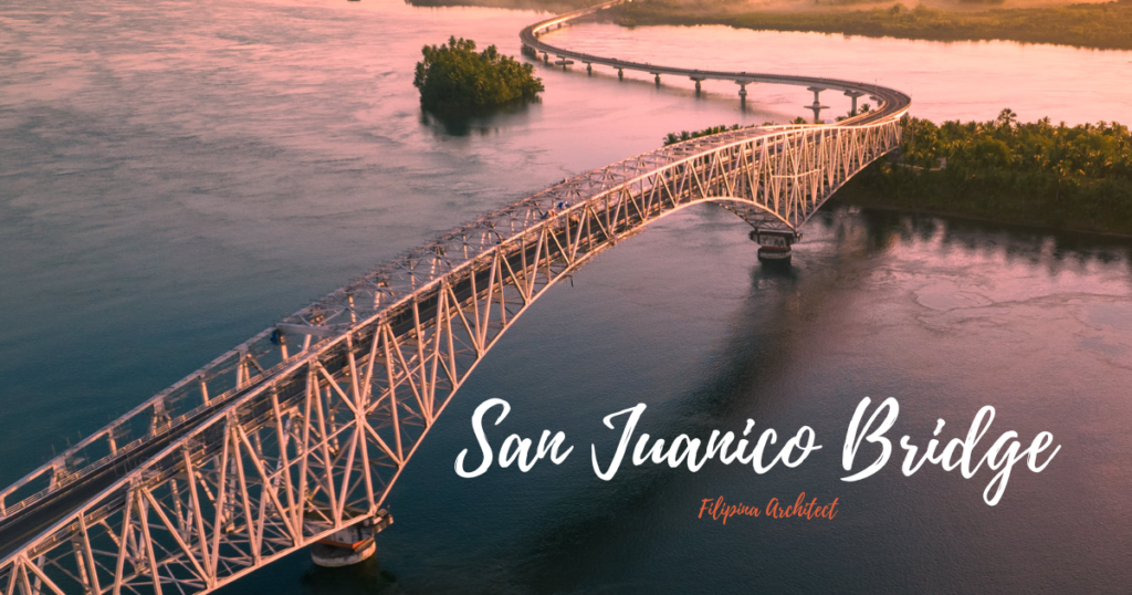
{"label": "whole long steel truss bridge with its winding S-curved approach road", "polygon": [[[610,3],[611,5],[611,3]],[[649,223],[721,203],[794,237],[851,176],[897,148],[907,95],[784,75],[564,61],[868,94],[831,126],[731,130],[567,179],[421,246],[213,360],[0,492],[0,589],[207,593],[381,503],[504,332],[555,283]],[[698,80],[697,80],[698,83]],[[816,93],[816,92],[815,92]]]}

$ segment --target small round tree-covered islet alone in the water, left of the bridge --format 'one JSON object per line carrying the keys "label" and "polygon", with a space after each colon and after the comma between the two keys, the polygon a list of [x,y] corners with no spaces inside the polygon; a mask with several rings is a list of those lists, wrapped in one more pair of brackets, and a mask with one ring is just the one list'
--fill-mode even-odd
{"label": "small round tree-covered islet alone in the water, left of the bridge", "polygon": [[447,45],[426,45],[413,85],[421,105],[449,111],[484,109],[537,99],[542,79],[534,67],[501,56],[495,45],[477,53],[472,40],[449,37]]}

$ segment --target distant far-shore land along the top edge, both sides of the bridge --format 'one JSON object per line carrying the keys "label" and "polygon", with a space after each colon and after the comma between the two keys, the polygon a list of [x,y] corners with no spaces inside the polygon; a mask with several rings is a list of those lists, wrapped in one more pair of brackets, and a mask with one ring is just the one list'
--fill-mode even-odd
{"label": "distant far-shore land along the top edge, both sides of the bridge", "polygon": [[[585,0],[406,0],[413,6],[487,6],[565,11]],[[727,25],[929,41],[1015,41],[1132,50],[1132,0],[928,0],[912,8],[869,0],[636,0],[607,18],[624,26]]]}

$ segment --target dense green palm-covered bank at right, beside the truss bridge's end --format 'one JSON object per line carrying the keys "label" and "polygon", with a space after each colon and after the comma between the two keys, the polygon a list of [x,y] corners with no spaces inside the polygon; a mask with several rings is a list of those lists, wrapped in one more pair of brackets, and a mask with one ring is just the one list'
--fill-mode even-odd
{"label": "dense green palm-covered bank at right, beside the truss bridge's end", "polygon": [[889,206],[1132,235],[1132,137],[1116,122],[1019,124],[903,120],[900,156],[869,165],[837,198]]}

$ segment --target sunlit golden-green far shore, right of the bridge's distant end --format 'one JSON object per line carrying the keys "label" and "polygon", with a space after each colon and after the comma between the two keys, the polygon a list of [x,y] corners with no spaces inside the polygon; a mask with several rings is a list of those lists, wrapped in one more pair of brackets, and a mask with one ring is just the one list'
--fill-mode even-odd
{"label": "sunlit golden-green far shore, right of the bridge's distant end", "polygon": [[[822,0],[815,0],[821,2]],[[997,0],[967,0],[988,3]],[[843,5],[851,0],[825,0]],[[869,37],[934,41],[1010,40],[1079,48],[1132,50],[1132,0],[978,12],[943,11],[904,5],[854,11],[749,12],[734,0],[685,3],[637,0],[619,18],[638,25],[730,25],[771,31],[816,31]]]}

